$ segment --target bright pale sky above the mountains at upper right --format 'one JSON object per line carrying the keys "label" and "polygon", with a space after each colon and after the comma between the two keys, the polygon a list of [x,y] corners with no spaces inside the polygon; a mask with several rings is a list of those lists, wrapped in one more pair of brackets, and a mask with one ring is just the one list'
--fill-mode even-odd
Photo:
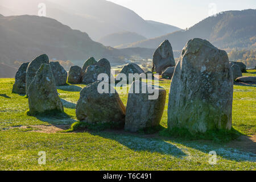
{"label": "bright pale sky above the mountains at upper right", "polygon": [[108,0],[125,6],[146,20],[187,28],[214,12],[256,9],[256,0]]}

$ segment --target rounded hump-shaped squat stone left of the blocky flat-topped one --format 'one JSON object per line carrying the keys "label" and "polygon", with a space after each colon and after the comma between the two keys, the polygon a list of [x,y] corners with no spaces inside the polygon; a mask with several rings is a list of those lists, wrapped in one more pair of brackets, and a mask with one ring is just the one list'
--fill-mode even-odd
{"label": "rounded hump-shaped squat stone left of the blocky flat-topped one", "polygon": [[[125,106],[118,93],[99,93],[101,81],[87,85],[80,92],[76,105],[76,117],[87,123],[115,123],[124,125]],[[112,88],[114,89],[114,88]]]}

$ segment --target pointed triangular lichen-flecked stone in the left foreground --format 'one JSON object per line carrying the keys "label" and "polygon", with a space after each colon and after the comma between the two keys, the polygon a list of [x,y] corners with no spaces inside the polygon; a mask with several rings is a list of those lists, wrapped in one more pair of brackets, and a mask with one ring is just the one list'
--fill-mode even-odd
{"label": "pointed triangular lichen-flecked stone in the left foreground", "polygon": [[42,64],[27,90],[29,113],[31,115],[46,111],[63,111],[57,93],[55,78],[49,64]]}

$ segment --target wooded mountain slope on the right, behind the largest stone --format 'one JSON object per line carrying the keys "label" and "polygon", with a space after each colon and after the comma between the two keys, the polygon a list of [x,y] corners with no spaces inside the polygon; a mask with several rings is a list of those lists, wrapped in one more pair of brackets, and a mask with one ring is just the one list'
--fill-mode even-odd
{"label": "wooded mountain slope on the right, behind the largest stone", "polygon": [[255,48],[256,10],[225,11],[210,16],[187,31],[176,31],[157,38],[132,43],[127,47],[156,48],[168,39],[174,50],[181,50],[192,38],[209,40],[218,48]]}

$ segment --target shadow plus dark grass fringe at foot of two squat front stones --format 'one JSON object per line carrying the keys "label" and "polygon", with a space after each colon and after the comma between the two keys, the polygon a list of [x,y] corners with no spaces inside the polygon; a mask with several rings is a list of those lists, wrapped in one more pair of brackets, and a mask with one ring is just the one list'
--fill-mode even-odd
{"label": "shadow plus dark grass fringe at foot of two squat front stones", "polygon": [[[121,126],[114,126],[114,124],[105,123],[92,126],[85,122],[76,122],[73,123],[70,131],[86,131],[95,136],[115,140],[133,151],[148,151],[151,153],[157,152],[159,154],[172,155],[175,156],[176,158],[183,158],[184,156],[186,156],[186,154],[179,148],[177,148],[174,144],[165,142],[162,139],[156,139],[154,137],[149,138],[148,136],[146,137],[145,135],[143,136],[139,134],[128,133],[122,129],[123,126],[121,128]],[[152,133],[155,132],[156,130],[151,129],[151,131],[147,131],[147,133]]]}

